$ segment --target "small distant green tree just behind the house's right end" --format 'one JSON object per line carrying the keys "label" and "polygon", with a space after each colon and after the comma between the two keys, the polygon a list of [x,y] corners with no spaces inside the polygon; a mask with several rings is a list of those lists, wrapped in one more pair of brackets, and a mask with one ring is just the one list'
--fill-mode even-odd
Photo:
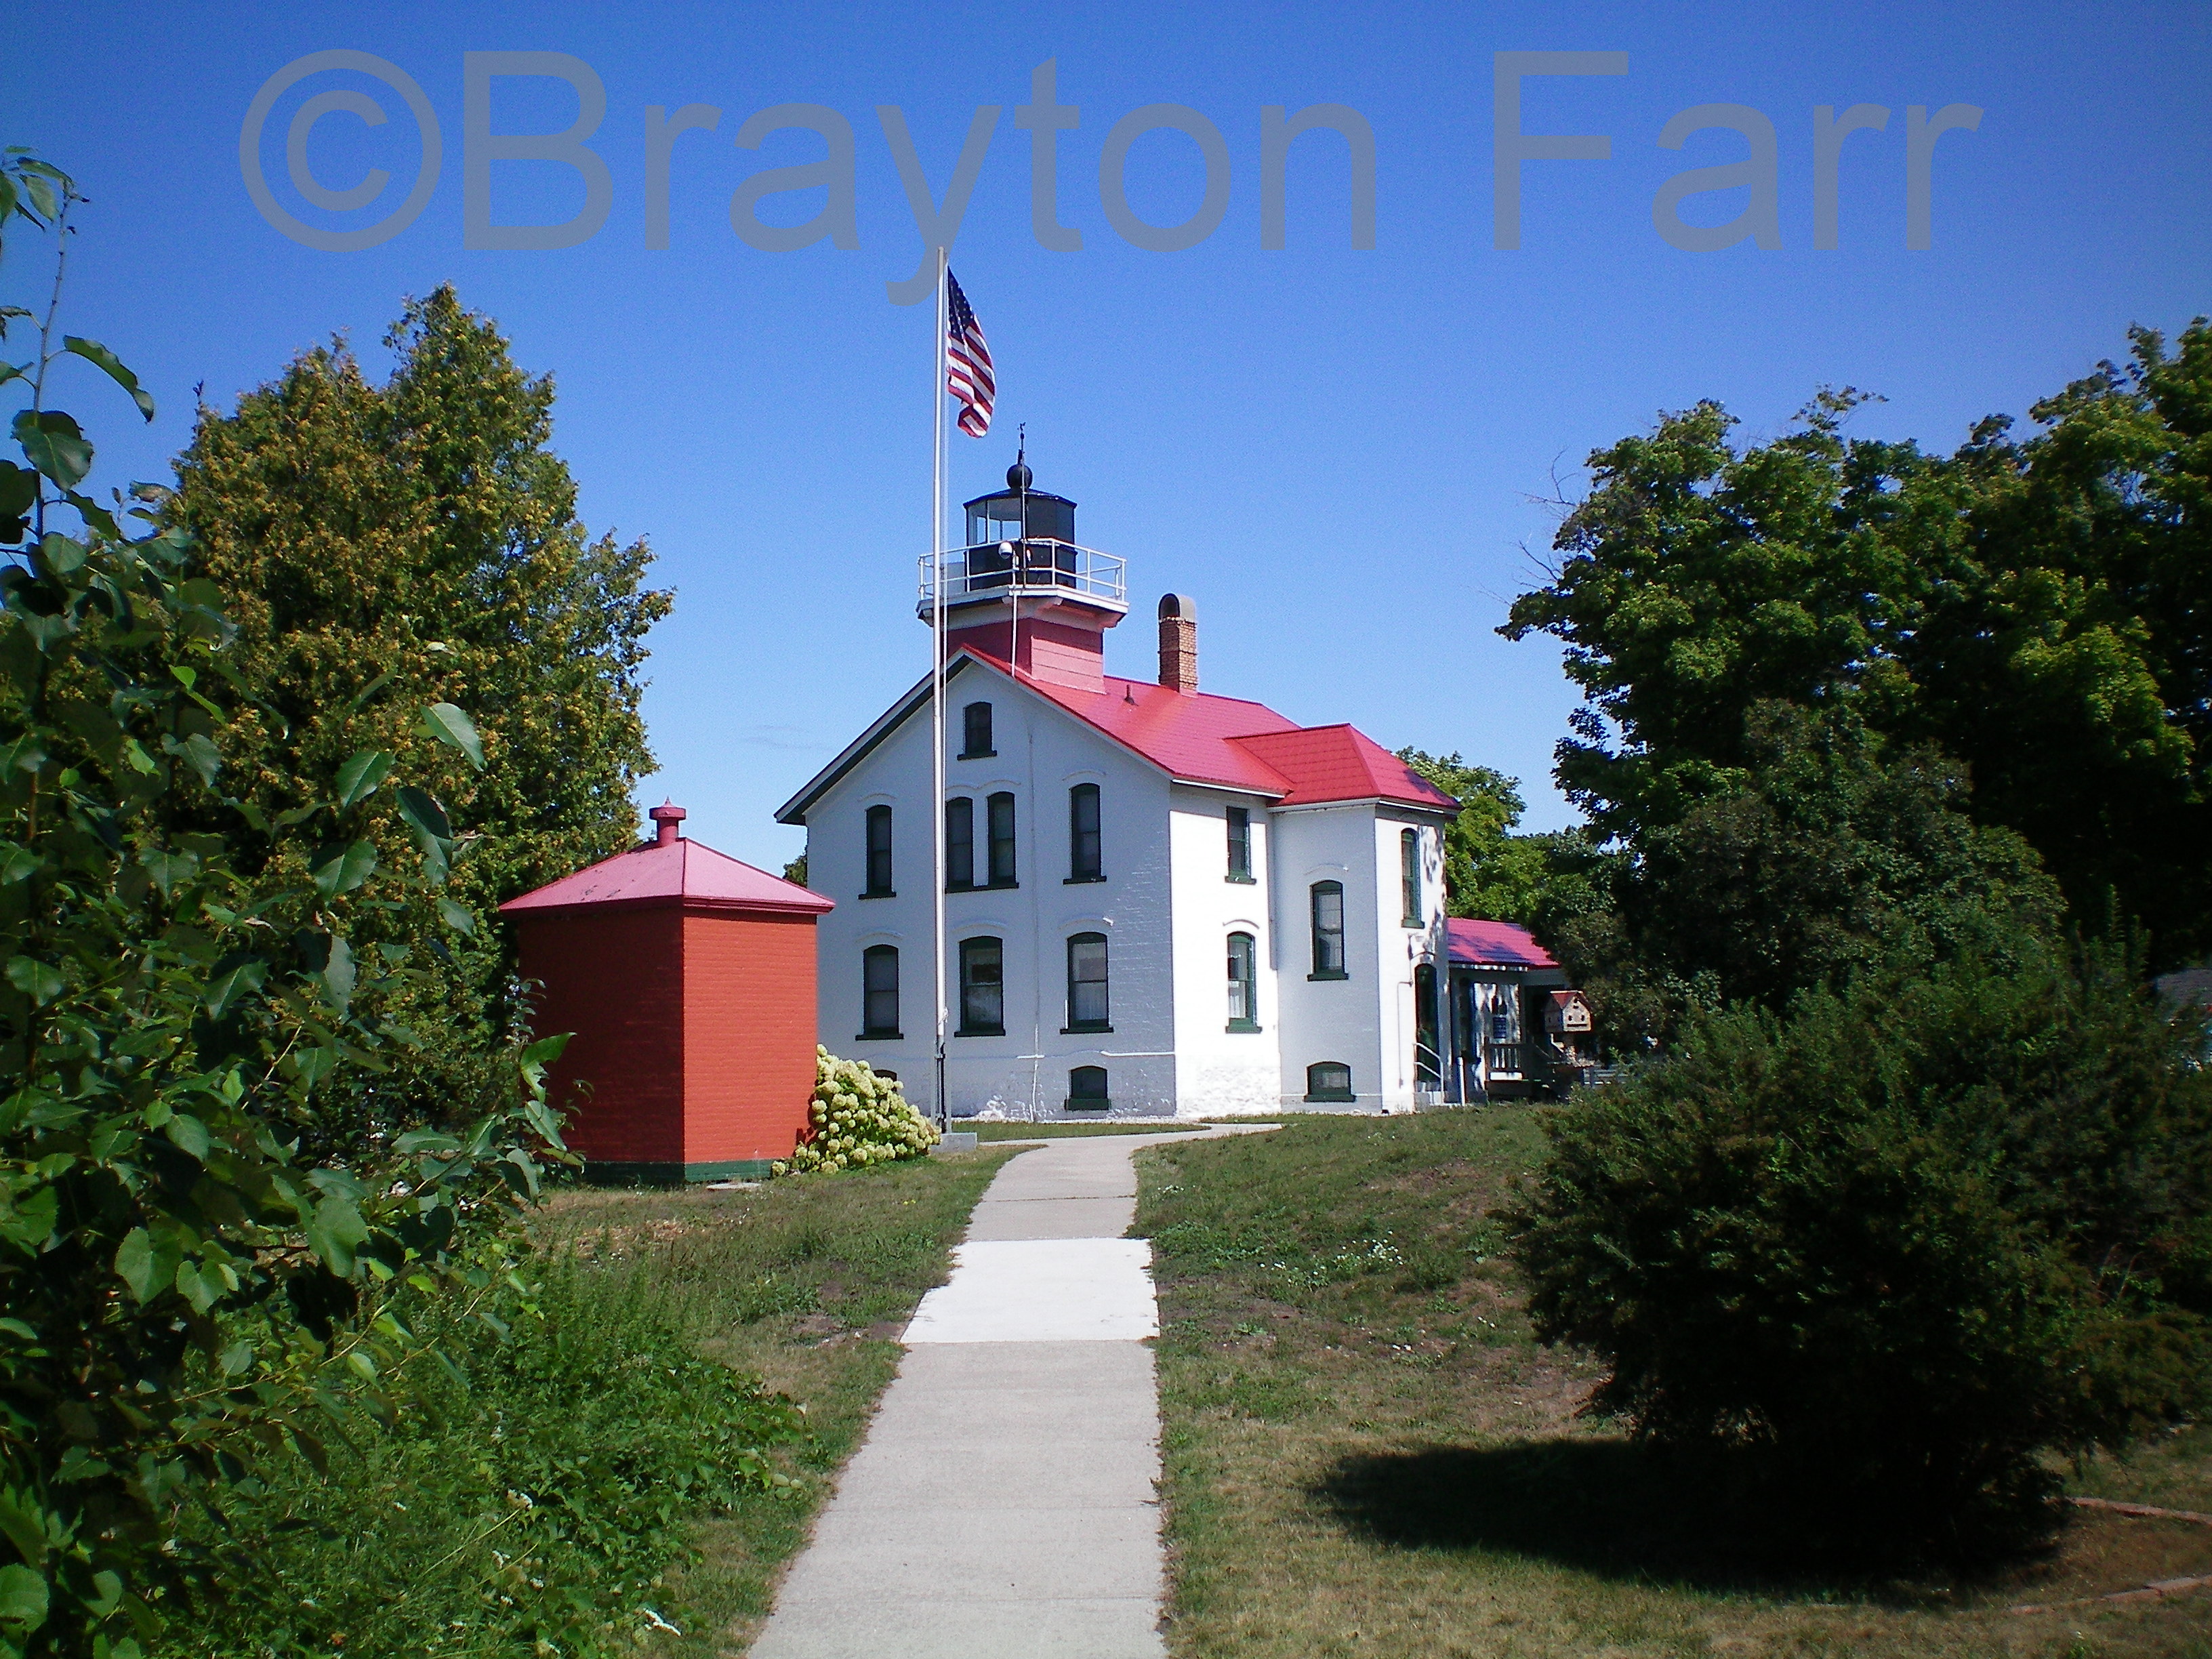
{"label": "small distant green tree just behind the house's right end", "polygon": [[1593,902],[1595,847],[1579,830],[1515,834],[1520,779],[1418,748],[1398,759],[1460,803],[1444,830],[1444,907],[1451,916],[1557,927]]}

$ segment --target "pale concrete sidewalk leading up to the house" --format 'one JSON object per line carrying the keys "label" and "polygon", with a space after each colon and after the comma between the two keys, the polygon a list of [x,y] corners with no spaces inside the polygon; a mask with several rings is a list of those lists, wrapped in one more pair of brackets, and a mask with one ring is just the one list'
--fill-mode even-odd
{"label": "pale concrete sidewalk leading up to the house", "polygon": [[1159,1310],[1121,1234],[1130,1155],[1206,1135],[1044,1141],[998,1172],[754,1659],[1164,1659]]}

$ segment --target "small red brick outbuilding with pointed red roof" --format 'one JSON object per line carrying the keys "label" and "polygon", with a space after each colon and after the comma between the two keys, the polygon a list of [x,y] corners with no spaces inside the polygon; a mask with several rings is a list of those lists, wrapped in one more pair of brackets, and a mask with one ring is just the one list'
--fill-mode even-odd
{"label": "small red brick outbuilding with pointed red roof", "polygon": [[679,834],[513,898],[540,1033],[568,1031],[555,1099],[595,1181],[768,1175],[814,1091],[814,918],[827,898]]}

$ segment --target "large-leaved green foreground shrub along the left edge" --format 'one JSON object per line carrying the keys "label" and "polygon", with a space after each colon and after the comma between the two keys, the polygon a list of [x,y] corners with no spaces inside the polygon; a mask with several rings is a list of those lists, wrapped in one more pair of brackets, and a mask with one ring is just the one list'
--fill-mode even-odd
{"label": "large-leaved green foreground shrub along the left edge", "polygon": [[[0,159],[0,228],[66,239],[75,199],[35,157]],[[420,902],[460,838],[376,748],[281,812],[230,792],[223,743],[257,692],[226,657],[223,593],[190,575],[184,531],[133,540],[119,495],[80,491],[93,447],[46,405],[71,365],[153,416],[104,345],[53,343],[51,307],[31,361],[0,365],[31,389],[29,465],[0,462],[7,1659],[135,1659],[226,1571],[181,1531],[188,1506],[221,1509],[263,1453],[321,1458],[332,1413],[392,1418],[434,1369],[425,1332],[513,1292],[502,1230],[535,1192],[533,1148],[566,1157],[542,1099],[557,1040],[504,1055],[473,1126],[301,1155],[352,1079],[418,1044],[389,1004],[440,982],[440,940],[365,918],[460,911]],[[482,763],[460,708],[422,721]],[[405,863],[365,816],[387,783]]]}

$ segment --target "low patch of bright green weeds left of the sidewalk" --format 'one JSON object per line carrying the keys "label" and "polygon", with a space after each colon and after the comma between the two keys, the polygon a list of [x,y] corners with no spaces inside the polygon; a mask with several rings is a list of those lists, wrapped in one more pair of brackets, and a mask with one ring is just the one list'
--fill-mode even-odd
{"label": "low patch of bright green weeds left of the sidewalk", "polygon": [[770,1455],[799,1409],[703,1358],[650,1263],[564,1250],[529,1276],[509,1336],[420,1332],[456,1371],[389,1422],[349,1413],[327,1475],[272,1467],[195,1528],[252,1571],[184,1652],[635,1652],[697,1515],[792,1486]]}

